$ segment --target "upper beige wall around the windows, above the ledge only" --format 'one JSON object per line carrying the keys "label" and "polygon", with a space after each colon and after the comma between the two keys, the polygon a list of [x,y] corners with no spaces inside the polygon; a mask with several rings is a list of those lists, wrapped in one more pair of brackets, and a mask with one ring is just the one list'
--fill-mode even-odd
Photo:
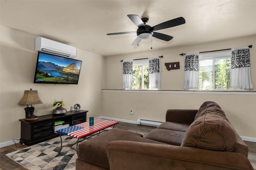
{"label": "upper beige wall around the windows, above the ledge only", "polygon": [[[163,56],[163,58],[161,58],[161,90],[184,90],[184,57],[179,54],[213,51],[218,49],[229,49],[232,47],[243,47],[248,45],[252,45],[252,48],[250,48],[250,58],[252,64],[252,83],[254,84],[254,89],[252,89],[252,91],[256,91],[256,36],[231,39],[227,41],[216,41],[212,43],[204,43],[198,45],[174,47],[161,50],[150,50],[150,47],[148,47],[149,51],[141,53],[106,57],[106,89],[122,89],[122,71],[118,71],[122,70],[122,62],[120,62],[121,60],[143,59],[148,57]],[[154,49],[154,45],[152,46]],[[164,63],[172,62],[180,62],[180,69],[168,71],[164,66]]]}

